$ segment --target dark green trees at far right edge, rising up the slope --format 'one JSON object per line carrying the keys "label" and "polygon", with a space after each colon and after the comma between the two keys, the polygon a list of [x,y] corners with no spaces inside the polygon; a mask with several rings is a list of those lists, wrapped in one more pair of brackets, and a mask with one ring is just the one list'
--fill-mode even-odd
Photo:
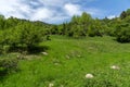
{"label": "dark green trees at far right edge, rising up the slope", "polygon": [[[121,18],[121,16],[120,16]],[[115,36],[119,42],[130,42],[130,9],[126,11],[126,17],[117,21]]]}

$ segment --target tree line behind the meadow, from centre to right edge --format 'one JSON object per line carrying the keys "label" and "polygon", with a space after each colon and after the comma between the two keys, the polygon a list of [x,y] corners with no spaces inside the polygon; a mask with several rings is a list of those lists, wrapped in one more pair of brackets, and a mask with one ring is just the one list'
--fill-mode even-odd
{"label": "tree line behind the meadow, from centre to right edge", "polygon": [[83,12],[80,16],[74,15],[70,22],[54,25],[52,35],[64,35],[74,38],[113,36],[119,42],[130,42],[130,9],[122,11],[118,17],[112,20],[93,18]]}

